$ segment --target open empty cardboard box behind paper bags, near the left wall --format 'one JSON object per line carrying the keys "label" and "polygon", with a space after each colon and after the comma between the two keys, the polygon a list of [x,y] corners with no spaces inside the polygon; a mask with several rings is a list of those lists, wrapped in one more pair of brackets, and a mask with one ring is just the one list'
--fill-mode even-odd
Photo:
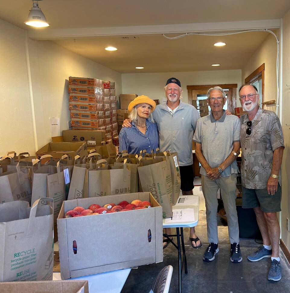
{"label": "open empty cardboard box behind paper bags, near the left wall", "polygon": [[[87,145],[83,142],[76,143],[48,143],[36,153],[38,159],[43,155],[53,156],[54,161],[59,161],[62,156],[67,155],[68,161],[75,161],[75,156],[79,155],[82,159],[88,155]],[[47,158],[49,160],[49,158]],[[44,163],[44,162],[43,162]]]}

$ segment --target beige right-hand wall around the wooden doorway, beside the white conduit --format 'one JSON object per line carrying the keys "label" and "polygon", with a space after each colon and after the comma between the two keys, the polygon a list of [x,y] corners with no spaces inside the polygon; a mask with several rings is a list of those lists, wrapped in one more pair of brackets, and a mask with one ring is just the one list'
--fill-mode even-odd
{"label": "beige right-hand wall around the wooden doorway, beside the white conduit", "polygon": [[[242,82],[245,78],[255,71],[259,66],[265,63],[265,99],[264,101],[276,100],[277,98],[277,82],[276,82],[276,58],[277,43],[276,38],[269,33],[259,49],[247,61],[242,68]],[[276,111],[275,106],[266,106],[265,109]]]}

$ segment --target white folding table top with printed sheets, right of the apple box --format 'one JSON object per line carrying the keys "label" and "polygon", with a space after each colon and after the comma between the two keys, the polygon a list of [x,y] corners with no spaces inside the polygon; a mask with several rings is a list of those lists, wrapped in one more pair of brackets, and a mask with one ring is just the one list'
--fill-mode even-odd
{"label": "white folding table top with printed sheets, right of the apple box", "polygon": [[[182,200],[184,200],[184,204],[180,203]],[[176,223],[166,223],[166,219],[163,219],[163,228],[195,227],[197,225],[199,217],[199,197],[197,195],[180,195],[177,203],[172,207],[173,211],[178,209],[193,209],[193,218],[190,221]]]}

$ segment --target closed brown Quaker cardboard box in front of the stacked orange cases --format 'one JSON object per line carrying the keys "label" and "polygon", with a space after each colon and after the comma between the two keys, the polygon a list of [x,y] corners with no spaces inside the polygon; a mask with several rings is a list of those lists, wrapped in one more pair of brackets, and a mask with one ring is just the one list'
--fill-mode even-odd
{"label": "closed brown Quaker cardboard box in front of the stacked orange cases", "polygon": [[62,130],[62,136],[52,137],[53,142],[86,142],[87,147],[101,146],[105,139],[101,130]]}

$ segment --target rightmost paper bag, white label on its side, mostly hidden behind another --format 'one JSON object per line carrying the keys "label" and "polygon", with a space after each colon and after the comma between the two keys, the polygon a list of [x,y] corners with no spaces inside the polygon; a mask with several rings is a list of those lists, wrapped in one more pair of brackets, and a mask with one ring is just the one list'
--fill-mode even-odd
{"label": "rightmost paper bag, white label on its side, mostly hidden behind another", "polygon": [[173,196],[173,204],[176,204],[177,199],[180,195],[180,171],[178,165],[178,154],[177,153],[157,153],[155,158],[165,158],[170,162],[170,171],[171,171],[171,181],[172,181],[172,196]]}

